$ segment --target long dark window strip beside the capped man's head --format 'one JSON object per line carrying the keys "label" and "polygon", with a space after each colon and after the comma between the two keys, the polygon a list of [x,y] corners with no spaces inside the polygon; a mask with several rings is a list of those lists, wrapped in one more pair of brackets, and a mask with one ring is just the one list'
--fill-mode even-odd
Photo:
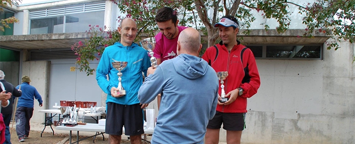
{"label": "long dark window strip beside the capped man's head", "polygon": [[256,58],[322,59],[322,45],[250,45]]}

